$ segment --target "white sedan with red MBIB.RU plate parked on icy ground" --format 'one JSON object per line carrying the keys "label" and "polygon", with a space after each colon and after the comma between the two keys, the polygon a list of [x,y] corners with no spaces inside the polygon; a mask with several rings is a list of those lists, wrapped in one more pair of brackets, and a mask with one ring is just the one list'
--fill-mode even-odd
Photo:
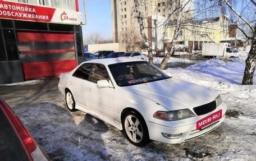
{"label": "white sedan with red MBIB.RU plate parked on icy ground", "polygon": [[58,88],[79,109],[123,130],[136,146],[170,144],[220,126],[226,104],[203,86],[174,79],[141,59],[95,59],[62,73]]}

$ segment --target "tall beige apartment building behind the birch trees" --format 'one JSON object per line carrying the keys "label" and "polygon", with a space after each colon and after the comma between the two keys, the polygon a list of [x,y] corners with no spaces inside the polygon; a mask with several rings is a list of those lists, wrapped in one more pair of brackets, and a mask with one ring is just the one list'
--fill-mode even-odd
{"label": "tall beige apartment building behind the birch trees", "polygon": [[[159,15],[164,17],[170,17],[174,19],[177,14],[175,12],[175,6],[177,0],[148,0],[140,1],[141,13],[143,15],[145,35],[149,37],[149,41],[152,42],[152,29],[155,27],[152,25],[152,15]],[[139,32],[139,24],[135,17],[134,1],[131,0],[112,0],[112,29],[113,29],[113,42],[127,43],[127,50],[132,50],[134,46],[138,49],[141,36]],[[184,12],[182,13],[182,19],[191,19],[193,17],[193,1],[182,0]],[[132,46],[132,47],[131,47]]]}

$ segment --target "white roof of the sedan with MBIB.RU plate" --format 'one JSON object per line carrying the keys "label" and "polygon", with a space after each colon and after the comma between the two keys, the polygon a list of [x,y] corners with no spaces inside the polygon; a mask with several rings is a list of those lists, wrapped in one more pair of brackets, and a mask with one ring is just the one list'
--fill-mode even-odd
{"label": "white roof of the sedan with MBIB.RU plate", "polygon": [[142,59],[135,59],[135,58],[122,58],[122,57],[117,57],[117,58],[109,58],[109,59],[94,59],[92,61],[86,61],[83,63],[101,63],[103,65],[112,65],[116,63],[125,63],[125,62],[138,62],[138,61],[145,61]]}

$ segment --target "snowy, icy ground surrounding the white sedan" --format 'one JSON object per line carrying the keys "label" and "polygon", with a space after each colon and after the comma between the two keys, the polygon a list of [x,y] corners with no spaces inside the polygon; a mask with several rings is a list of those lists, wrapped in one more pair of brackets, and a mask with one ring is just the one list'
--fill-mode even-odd
{"label": "snowy, icy ground surrounding the white sedan", "polygon": [[[52,160],[256,160],[256,75],[254,85],[240,85],[244,59],[209,59],[186,69],[165,70],[172,77],[216,90],[228,106],[220,127],[182,144],[131,145],[107,123],[84,112],[69,112],[56,77],[0,86],[0,96]],[[171,58],[174,61],[179,60]]]}

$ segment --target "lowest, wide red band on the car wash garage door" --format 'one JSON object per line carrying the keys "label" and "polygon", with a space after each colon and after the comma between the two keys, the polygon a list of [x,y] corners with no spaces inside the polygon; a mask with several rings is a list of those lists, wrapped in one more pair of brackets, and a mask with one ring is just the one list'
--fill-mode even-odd
{"label": "lowest, wide red band on the car wash garage door", "polygon": [[25,79],[58,76],[76,67],[76,60],[23,63]]}

